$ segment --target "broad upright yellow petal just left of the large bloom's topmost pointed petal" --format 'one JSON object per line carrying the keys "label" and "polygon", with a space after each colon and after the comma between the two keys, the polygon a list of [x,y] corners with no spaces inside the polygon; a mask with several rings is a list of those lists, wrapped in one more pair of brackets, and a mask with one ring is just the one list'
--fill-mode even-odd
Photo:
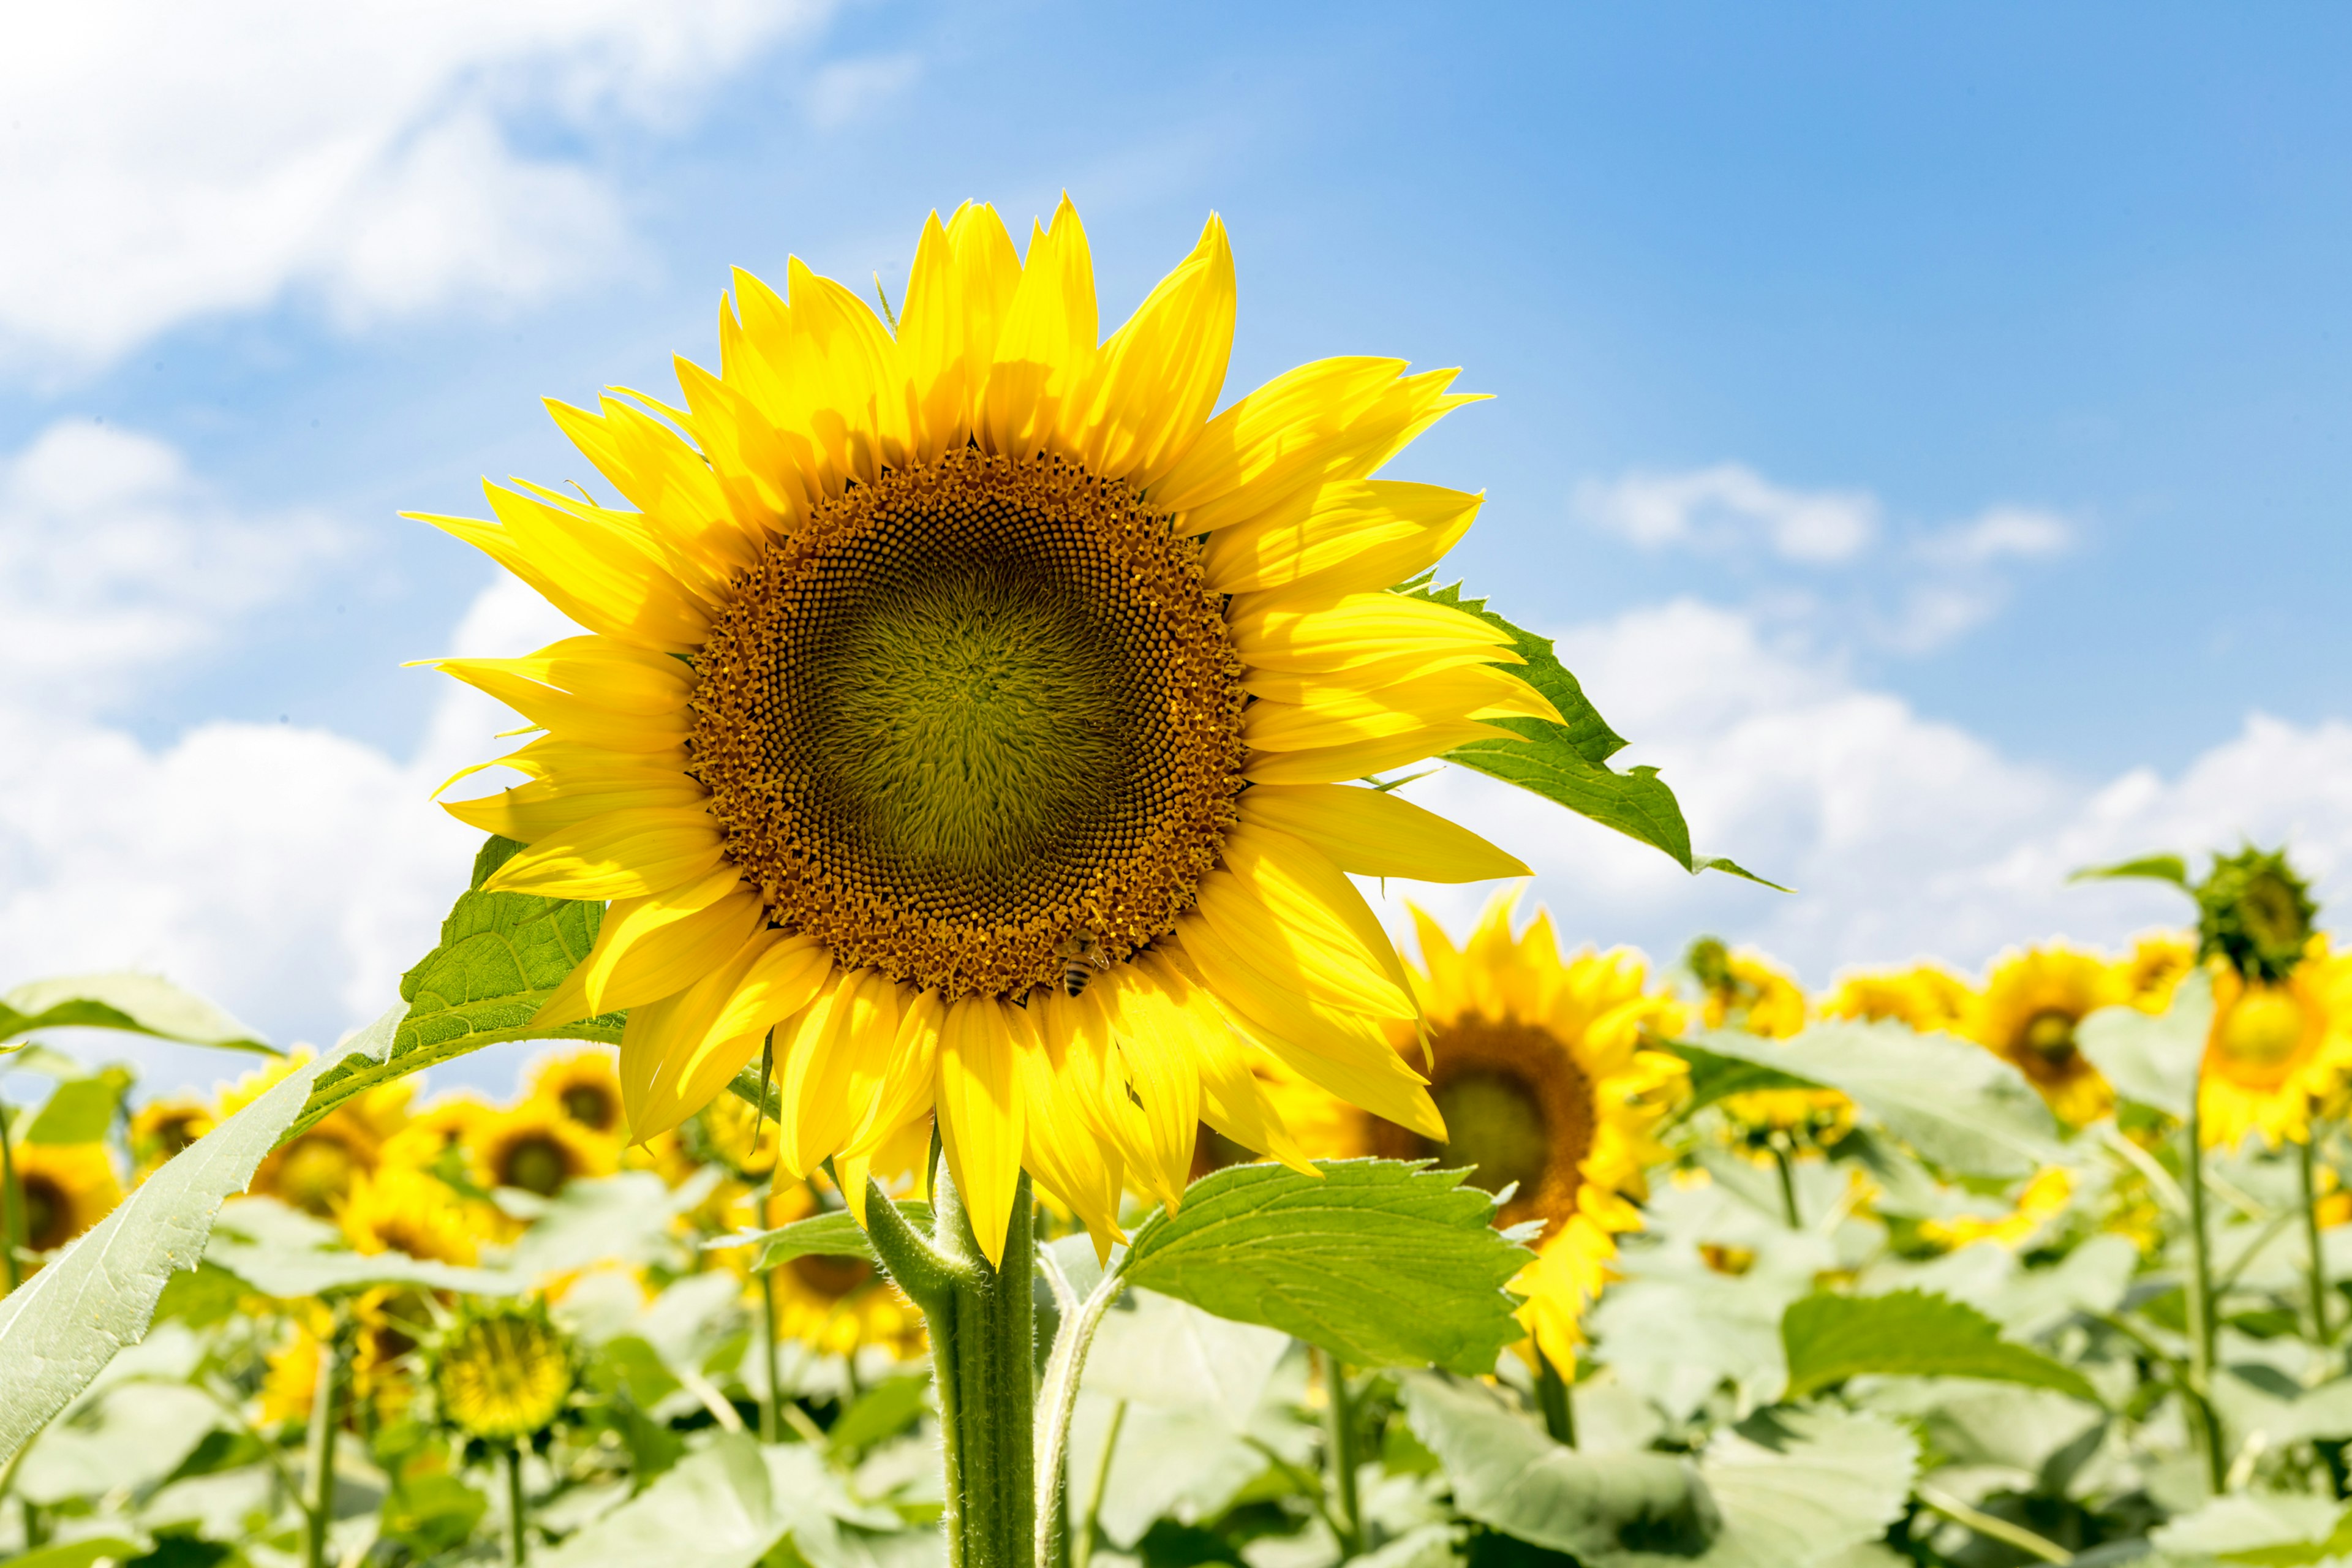
{"label": "broad upright yellow petal just left of the large bloom's topmost pointed petal", "polygon": [[964,202],[922,226],[898,313],[898,353],[922,409],[920,456],[931,461],[971,435],[1004,315],[1021,287],[1021,254],[995,207]]}

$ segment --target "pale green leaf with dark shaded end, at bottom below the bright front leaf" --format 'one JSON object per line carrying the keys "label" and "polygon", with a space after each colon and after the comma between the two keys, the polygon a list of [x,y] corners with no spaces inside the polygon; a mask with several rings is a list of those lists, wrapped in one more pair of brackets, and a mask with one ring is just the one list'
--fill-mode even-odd
{"label": "pale green leaf with dark shaded end, at bottom below the bright front leaf", "polygon": [[1409,1373],[1404,1413],[1454,1483],[1454,1507],[1515,1540],[1595,1563],[1632,1549],[1691,1556],[1722,1528],[1682,1460],[1562,1448],[1482,1387]]}

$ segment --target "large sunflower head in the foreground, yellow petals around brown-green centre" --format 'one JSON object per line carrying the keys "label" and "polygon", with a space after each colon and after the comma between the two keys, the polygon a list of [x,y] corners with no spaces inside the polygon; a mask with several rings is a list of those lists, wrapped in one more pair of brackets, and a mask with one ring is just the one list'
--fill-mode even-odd
{"label": "large sunflower head in the foreground, yellow petals around brown-green centre", "polygon": [[1108,341],[1068,200],[1025,259],[934,216],[891,324],[788,287],[736,275],[684,407],[550,404],[630,510],[430,520],[588,628],[440,661],[546,731],[452,804],[527,844],[487,886],[612,900],[539,1023],[628,1009],[640,1140],[774,1030],[783,1166],[840,1157],[854,1204],[936,1110],[993,1258],[1023,1168],[1103,1239],[1127,1175],[1176,1204],[1197,1121],[1296,1159],[1261,1048],[1442,1135],[1345,872],[1522,867],[1350,780],[1557,717],[1505,632],[1385,592],[1479,505],[1371,480],[1454,371],[1322,360],[1209,418],[1216,219]]}

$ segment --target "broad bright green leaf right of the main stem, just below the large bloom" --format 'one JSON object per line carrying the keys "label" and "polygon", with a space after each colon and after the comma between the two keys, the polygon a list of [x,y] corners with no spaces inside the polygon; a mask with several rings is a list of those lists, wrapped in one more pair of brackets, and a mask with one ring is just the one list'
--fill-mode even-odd
{"label": "broad bright green leaf right of the main stem, just below the large bloom", "polygon": [[1355,1366],[1494,1371],[1524,1338],[1503,1293],[1531,1253],[1494,1229],[1494,1199],[1463,1171],[1392,1159],[1230,1166],[1155,1213],[1127,1284],[1237,1324],[1265,1324]]}

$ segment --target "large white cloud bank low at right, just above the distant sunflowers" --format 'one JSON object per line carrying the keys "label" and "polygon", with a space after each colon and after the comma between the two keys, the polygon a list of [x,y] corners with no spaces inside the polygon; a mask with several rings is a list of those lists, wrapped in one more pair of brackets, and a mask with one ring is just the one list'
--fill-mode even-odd
{"label": "large white cloud bank low at right, just above the distant sunflowers", "polygon": [[[1526,858],[1569,940],[1635,943],[1672,959],[1719,931],[1799,964],[1940,954],[1980,964],[2011,943],[2074,933],[2122,940],[2180,924],[2164,889],[2067,886],[2074,867],[2178,849],[2288,842],[2352,896],[2352,726],[2249,717],[2178,776],[2072,778],[1999,752],[1886,691],[1776,644],[1740,611],[1675,602],[1569,630],[1559,654],[1682,799],[1700,853],[1785,882],[1780,896],[1708,875],[1461,769],[1411,792]],[[1390,884],[1402,931],[1414,896],[1465,922],[1477,889]]]}

